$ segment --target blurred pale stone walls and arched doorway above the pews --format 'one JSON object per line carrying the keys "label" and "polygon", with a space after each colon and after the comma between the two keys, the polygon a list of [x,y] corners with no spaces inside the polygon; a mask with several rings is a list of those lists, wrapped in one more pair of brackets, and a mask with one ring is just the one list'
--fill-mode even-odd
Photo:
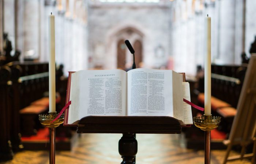
{"label": "blurred pale stone walls and arched doorway above the pews", "polygon": [[[212,63],[240,64],[256,35],[254,0],[2,0],[0,33],[20,61],[48,62],[55,15],[56,64],[68,71],[137,67],[196,75],[203,67],[204,18],[211,17]],[[3,38],[0,40],[4,55]]]}

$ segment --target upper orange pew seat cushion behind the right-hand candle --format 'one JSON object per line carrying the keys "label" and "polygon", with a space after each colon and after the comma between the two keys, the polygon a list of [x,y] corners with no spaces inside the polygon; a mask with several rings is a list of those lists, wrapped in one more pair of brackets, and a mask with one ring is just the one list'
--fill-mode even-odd
{"label": "upper orange pew seat cushion behind the right-hand candle", "polygon": [[[197,97],[197,100],[201,104],[204,104],[204,93],[200,93]],[[211,96],[211,109],[213,111],[216,111],[218,108],[221,108],[221,107],[231,107],[231,105],[225,101],[222,101],[216,97]]]}

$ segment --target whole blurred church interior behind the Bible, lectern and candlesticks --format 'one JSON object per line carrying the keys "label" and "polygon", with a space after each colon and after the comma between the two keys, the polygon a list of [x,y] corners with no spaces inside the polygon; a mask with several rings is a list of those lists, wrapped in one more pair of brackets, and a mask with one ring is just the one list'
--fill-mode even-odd
{"label": "whole blurred church interior behind the Bible, lectern and candlesticks", "polygon": [[[55,21],[56,111],[69,71],[132,69],[185,73],[204,107],[205,18],[211,17],[211,163],[256,163],[255,0],[0,0],[0,164],[49,163],[49,15]],[[253,63],[255,62],[255,63]],[[192,117],[204,113],[192,107]],[[56,163],[121,163],[118,133],[56,128]],[[204,131],[136,134],[136,163],[204,163]],[[238,159],[229,159],[238,156]]]}

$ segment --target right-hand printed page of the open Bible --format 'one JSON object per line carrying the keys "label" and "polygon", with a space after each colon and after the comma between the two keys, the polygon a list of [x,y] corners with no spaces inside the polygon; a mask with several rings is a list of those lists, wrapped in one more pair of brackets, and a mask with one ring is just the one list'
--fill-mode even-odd
{"label": "right-hand printed page of the open Bible", "polygon": [[171,70],[133,69],[128,71],[128,116],[173,117],[171,78]]}

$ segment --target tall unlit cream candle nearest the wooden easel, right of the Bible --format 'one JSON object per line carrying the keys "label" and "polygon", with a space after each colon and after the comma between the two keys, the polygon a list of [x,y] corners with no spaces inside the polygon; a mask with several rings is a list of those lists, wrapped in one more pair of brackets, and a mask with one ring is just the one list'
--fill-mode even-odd
{"label": "tall unlit cream candle nearest the wooden easel, right of the Bible", "polygon": [[204,114],[211,114],[211,17],[205,18]]}

